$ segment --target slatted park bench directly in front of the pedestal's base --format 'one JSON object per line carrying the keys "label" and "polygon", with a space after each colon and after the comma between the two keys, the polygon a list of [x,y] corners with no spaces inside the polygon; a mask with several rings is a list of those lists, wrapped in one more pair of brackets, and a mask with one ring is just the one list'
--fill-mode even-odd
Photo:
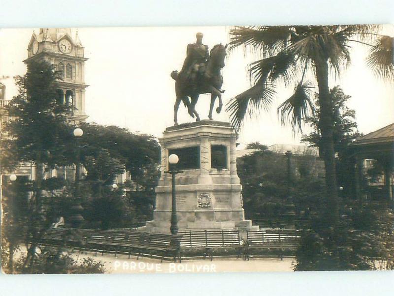
{"label": "slatted park bench directly in front of the pedestal's base", "polygon": [[204,249],[204,258],[207,256],[210,260],[217,250],[224,248],[239,249],[237,256],[243,248],[238,230],[222,229],[222,230],[189,230],[181,232],[183,235],[180,242],[182,249],[191,249],[201,247]]}

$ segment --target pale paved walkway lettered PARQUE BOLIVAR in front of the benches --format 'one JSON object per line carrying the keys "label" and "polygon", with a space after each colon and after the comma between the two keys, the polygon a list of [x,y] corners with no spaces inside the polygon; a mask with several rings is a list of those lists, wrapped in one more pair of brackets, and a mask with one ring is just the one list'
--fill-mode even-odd
{"label": "pale paved walkway lettered PARQUE BOLIVAR in front of the benches", "polygon": [[[76,254],[75,254],[76,256]],[[212,273],[212,272],[284,272],[293,271],[291,268],[294,258],[251,258],[249,261],[242,259],[214,258],[196,260],[182,260],[182,263],[163,261],[158,259],[135,256],[130,259],[127,255],[97,254],[88,252],[80,254],[79,258],[92,257],[96,261],[103,261],[107,273]]]}

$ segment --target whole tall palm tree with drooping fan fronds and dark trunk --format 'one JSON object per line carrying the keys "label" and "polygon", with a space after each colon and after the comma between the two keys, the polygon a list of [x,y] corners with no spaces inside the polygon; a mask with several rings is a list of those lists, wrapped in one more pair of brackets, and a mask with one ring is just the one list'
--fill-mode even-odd
{"label": "whole tall palm tree with drooping fan fronds and dark trunk", "polygon": [[[243,119],[267,110],[273,102],[275,83],[296,82],[293,95],[278,107],[282,124],[290,121],[293,131],[301,130],[302,119],[313,112],[309,99],[313,88],[305,74],[312,71],[318,86],[321,141],[326,170],[326,192],[329,219],[338,215],[335,153],[333,141],[332,100],[328,86],[329,71],[339,75],[350,62],[350,44],[357,42],[370,47],[367,65],[385,79],[394,77],[393,37],[379,35],[379,25],[337,26],[252,26],[230,30],[230,50],[244,46],[260,53],[262,59],[249,65],[253,86],[230,99],[227,112],[235,129]],[[297,77],[301,79],[297,80]]]}

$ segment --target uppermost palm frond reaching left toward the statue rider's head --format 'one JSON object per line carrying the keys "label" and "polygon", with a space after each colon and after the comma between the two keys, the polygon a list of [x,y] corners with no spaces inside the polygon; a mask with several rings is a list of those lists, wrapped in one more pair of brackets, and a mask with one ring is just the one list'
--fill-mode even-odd
{"label": "uppermost palm frond reaching left toward the statue rider's head", "polygon": [[290,33],[289,26],[238,26],[230,30],[230,51],[244,46],[262,51],[263,57],[276,55],[286,47]]}

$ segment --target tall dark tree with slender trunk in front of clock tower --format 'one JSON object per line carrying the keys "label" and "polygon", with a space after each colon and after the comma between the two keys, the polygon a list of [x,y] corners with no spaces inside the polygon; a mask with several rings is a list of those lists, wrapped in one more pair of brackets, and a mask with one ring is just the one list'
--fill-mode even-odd
{"label": "tall dark tree with slender trunk in front of clock tower", "polygon": [[27,73],[17,76],[18,95],[7,106],[10,121],[5,131],[8,148],[8,164],[32,163],[36,167],[33,195],[30,198],[28,221],[28,256],[26,264],[33,266],[35,250],[41,235],[49,226],[42,211],[42,185],[44,167],[70,164],[63,155],[70,134],[66,115],[72,109],[56,102],[57,80],[60,73],[45,60],[33,60],[27,64]]}

